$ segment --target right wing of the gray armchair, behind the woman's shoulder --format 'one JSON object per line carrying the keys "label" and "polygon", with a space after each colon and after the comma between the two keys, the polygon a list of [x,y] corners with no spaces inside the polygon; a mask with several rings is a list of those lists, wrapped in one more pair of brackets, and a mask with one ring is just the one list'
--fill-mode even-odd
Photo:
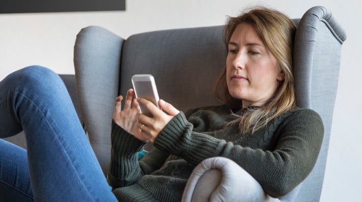
{"label": "right wing of the gray armchair, behind the woman's shoulder", "polygon": [[297,105],[319,113],[325,132],[317,163],[304,181],[297,201],[318,201],[320,198],[337,93],[341,45],[345,39],[343,29],[323,7],[309,9],[299,22],[294,46]]}

